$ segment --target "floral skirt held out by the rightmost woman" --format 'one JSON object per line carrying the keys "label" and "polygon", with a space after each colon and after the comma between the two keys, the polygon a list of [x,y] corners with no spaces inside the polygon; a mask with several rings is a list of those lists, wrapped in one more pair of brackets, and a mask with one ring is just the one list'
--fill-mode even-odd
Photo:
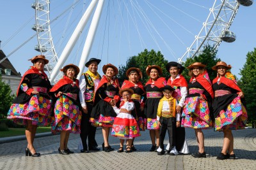
{"label": "floral skirt held out by the rightmost woman", "polygon": [[240,97],[236,97],[227,106],[227,110],[221,110],[215,118],[215,131],[244,129],[247,122],[247,111],[241,103]]}

